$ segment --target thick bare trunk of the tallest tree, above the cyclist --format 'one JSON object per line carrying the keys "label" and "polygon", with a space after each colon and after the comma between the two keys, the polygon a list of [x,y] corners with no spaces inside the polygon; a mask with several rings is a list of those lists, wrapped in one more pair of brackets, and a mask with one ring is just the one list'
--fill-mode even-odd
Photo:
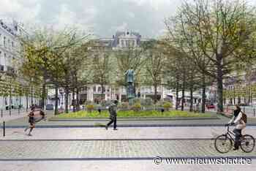
{"label": "thick bare trunk of the tallest tree, above the cyclist", "polygon": [[217,113],[223,112],[222,56],[217,56]]}

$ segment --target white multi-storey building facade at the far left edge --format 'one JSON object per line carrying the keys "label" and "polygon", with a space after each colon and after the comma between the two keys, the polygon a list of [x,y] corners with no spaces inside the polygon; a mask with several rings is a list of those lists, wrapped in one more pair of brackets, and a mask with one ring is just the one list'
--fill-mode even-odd
{"label": "white multi-storey building facade at the far left edge", "polygon": [[23,27],[16,21],[10,23],[0,20],[0,108],[1,110],[17,109],[18,107],[36,104],[38,99],[24,96],[24,83],[17,77],[18,67],[22,62],[21,45],[18,37],[26,34]]}

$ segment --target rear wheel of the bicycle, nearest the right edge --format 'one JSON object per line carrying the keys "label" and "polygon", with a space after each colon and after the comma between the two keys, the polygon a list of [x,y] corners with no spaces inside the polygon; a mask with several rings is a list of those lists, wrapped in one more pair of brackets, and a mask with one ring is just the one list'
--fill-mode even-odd
{"label": "rear wheel of the bicycle, nearest the right edge", "polygon": [[255,138],[252,137],[252,135],[244,134],[241,137],[241,145],[240,145],[242,151],[249,153],[252,152],[255,148]]}

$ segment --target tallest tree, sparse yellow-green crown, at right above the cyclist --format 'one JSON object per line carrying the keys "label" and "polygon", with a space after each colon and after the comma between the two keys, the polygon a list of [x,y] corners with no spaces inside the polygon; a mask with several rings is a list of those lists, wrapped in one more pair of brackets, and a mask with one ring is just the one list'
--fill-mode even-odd
{"label": "tallest tree, sparse yellow-green crown, at right above the cyclist", "polygon": [[[200,66],[204,75],[217,80],[218,112],[223,111],[223,78],[238,63],[234,55],[255,32],[255,11],[243,1],[195,0],[185,2],[176,18],[169,23],[182,49],[193,57],[206,58]],[[199,60],[197,62],[200,65]],[[206,64],[206,63],[204,63]]]}

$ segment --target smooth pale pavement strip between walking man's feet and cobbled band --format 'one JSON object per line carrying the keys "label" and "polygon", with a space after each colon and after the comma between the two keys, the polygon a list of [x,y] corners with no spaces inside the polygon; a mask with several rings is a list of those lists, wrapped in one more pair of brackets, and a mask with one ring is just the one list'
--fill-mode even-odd
{"label": "smooth pale pavement strip between walking man's feet and cobbled band", "polygon": [[[233,129],[233,127],[231,128]],[[246,126],[243,134],[252,134],[256,137],[256,126]],[[113,131],[109,128],[46,128],[34,129],[32,137],[28,137],[23,129],[6,129],[6,137],[2,137],[0,130],[0,140],[31,140],[31,139],[138,139],[138,138],[214,138],[225,132],[224,126],[214,127],[129,127],[118,128]]]}

